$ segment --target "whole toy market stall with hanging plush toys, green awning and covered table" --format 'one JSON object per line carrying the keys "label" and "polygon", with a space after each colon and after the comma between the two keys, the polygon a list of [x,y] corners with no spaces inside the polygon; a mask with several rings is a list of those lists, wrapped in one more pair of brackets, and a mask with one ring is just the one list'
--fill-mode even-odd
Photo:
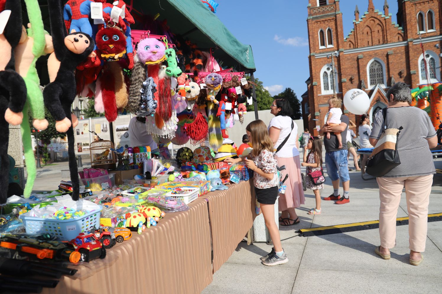
{"label": "whole toy market stall with hanging plush toys, green awning and covered table", "polygon": [[[21,4],[6,2],[18,20],[8,25],[21,31]],[[66,132],[70,179],[32,191],[38,177],[23,132],[27,185],[11,197],[0,191],[0,278],[11,279],[0,290],[19,281],[35,292],[200,292],[256,216],[247,167],[223,162],[250,152],[238,153],[228,130],[244,122],[255,97],[251,47],[199,0],[48,0],[43,16],[38,4],[24,1],[31,23],[24,38],[34,46],[17,49],[16,60],[22,68],[52,50],[49,83],[30,94],[32,119],[19,121],[16,108],[5,119],[25,131],[30,121],[44,131],[53,119],[51,128]],[[79,121],[71,113],[79,97],[93,99],[103,117]],[[114,131],[131,132],[129,113],[155,147],[115,142]],[[114,125],[121,114],[127,119]],[[194,147],[171,158],[167,144],[188,141]],[[75,153],[89,154],[91,167],[79,170]],[[43,284],[32,279],[36,272]]]}

